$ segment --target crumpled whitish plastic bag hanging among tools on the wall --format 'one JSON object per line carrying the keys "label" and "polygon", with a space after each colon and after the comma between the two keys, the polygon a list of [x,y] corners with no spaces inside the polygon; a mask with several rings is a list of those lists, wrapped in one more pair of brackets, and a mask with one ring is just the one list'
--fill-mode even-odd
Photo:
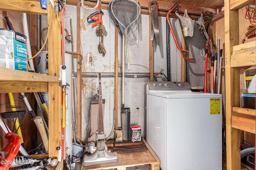
{"label": "crumpled whitish plastic bag hanging among tools on the wall", "polygon": [[182,23],[182,31],[184,33],[184,36],[185,37],[192,37],[193,33],[194,33],[195,20],[192,20],[188,16],[187,10],[185,10],[184,16],[180,16],[177,11],[175,12],[175,14],[178,16],[178,18],[180,19],[180,21]]}

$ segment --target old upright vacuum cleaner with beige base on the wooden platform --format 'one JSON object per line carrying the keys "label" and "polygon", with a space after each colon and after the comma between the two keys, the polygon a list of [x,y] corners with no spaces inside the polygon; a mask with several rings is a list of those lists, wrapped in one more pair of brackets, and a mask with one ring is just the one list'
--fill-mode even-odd
{"label": "old upright vacuum cleaner with beige base on the wooden platform", "polygon": [[[97,165],[118,162],[116,152],[108,152],[108,147],[105,143],[104,124],[103,124],[103,109],[102,109],[102,90],[99,74],[99,96],[98,96],[98,129],[96,131],[96,146],[88,144],[91,151],[90,155],[84,155],[83,165]],[[92,153],[93,152],[93,153]]]}

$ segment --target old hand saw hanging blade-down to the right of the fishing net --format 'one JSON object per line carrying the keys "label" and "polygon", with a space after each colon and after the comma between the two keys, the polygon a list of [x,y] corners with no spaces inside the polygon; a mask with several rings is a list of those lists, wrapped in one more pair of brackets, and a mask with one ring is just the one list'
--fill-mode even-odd
{"label": "old hand saw hanging blade-down to the right of the fishing net", "polygon": [[151,17],[150,39],[153,40],[155,35],[156,43],[159,45],[158,2],[156,2],[156,0],[148,2],[148,10]]}

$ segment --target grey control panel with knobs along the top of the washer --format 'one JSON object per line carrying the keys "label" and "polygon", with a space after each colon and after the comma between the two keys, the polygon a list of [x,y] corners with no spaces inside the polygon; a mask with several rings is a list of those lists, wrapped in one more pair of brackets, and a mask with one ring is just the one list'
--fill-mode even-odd
{"label": "grey control panel with knobs along the top of the washer", "polygon": [[191,90],[188,82],[148,82],[149,90]]}

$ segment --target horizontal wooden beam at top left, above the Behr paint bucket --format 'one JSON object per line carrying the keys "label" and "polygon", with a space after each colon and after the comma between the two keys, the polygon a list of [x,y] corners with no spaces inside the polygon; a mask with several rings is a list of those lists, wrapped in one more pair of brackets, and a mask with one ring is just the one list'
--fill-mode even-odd
{"label": "horizontal wooden beam at top left, above the Behr paint bucket", "polygon": [[32,0],[0,0],[1,11],[20,12],[27,14],[47,15],[47,10],[42,10],[40,2]]}

